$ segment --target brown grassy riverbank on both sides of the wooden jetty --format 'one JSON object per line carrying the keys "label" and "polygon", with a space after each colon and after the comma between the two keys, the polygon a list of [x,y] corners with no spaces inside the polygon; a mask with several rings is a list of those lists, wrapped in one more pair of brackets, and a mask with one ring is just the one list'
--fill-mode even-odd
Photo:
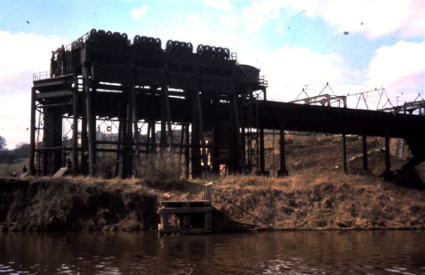
{"label": "brown grassy riverbank on both sides of the wooden jetty", "polygon": [[[425,190],[373,174],[214,180],[218,229],[425,229]],[[161,199],[201,199],[203,182],[90,177],[0,179],[0,230],[155,230]]]}

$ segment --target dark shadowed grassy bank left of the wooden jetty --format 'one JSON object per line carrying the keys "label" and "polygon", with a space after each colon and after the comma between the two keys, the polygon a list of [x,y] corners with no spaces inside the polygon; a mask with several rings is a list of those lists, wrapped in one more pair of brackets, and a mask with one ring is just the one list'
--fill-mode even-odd
{"label": "dark shadowed grassy bank left of the wooden jetty", "polygon": [[90,178],[0,180],[2,230],[137,230],[156,227],[157,194],[132,182]]}

